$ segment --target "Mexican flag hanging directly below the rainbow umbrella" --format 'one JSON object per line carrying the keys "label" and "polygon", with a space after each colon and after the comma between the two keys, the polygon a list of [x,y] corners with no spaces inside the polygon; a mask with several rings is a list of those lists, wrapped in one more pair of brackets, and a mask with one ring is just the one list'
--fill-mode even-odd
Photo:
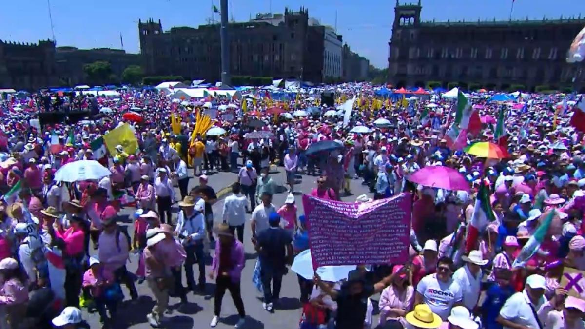
{"label": "Mexican flag hanging directly below the rainbow umbrella", "polygon": [[476,203],[473,207],[472,219],[469,221],[467,241],[465,249],[467,252],[475,248],[477,239],[490,222],[495,221],[494,211],[491,209],[490,193],[486,184],[481,183],[477,191]]}

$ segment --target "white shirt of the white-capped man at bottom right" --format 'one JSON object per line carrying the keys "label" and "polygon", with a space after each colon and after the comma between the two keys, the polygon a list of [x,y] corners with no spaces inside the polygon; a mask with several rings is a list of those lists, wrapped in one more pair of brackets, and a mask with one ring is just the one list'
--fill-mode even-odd
{"label": "white shirt of the white-capped man at bottom right", "polygon": [[[530,299],[528,298],[528,294],[526,294],[526,290],[521,293],[515,293],[512,297],[508,298],[504,303],[504,306],[502,306],[500,316],[515,324],[538,329],[540,326],[534,317],[534,312],[529,303]],[[546,303],[545,296],[542,296],[541,300],[538,301],[538,304],[532,305],[532,307],[534,307],[535,311],[539,310],[543,303]],[[504,327],[504,329],[510,328]]]}

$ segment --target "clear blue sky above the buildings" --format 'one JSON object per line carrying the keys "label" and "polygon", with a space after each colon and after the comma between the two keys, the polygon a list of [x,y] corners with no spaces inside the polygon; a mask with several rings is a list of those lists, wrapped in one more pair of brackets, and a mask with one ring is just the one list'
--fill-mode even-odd
{"label": "clear blue sky above the buildings", "polygon": [[[403,1],[416,2],[417,0]],[[324,25],[335,25],[344,42],[376,67],[387,66],[388,40],[394,19],[394,0],[230,0],[236,21],[248,20],[257,12],[283,12],[288,6],[309,9],[309,16]],[[161,19],[163,29],[198,26],[211,16],[212,3],[219,0],[50,0],[57,46],[78,48],[120,47],[139,52],[138,19]],[[423,20],[508,19],[512,0],[422,0]],[[51,38],[49,6],[46,0],[2,1],[0,39],[37,42]],[[583,0],[516,0],[513,17],[542,19],[579,15]],[[219,20],[219,15],[215,15]]]}

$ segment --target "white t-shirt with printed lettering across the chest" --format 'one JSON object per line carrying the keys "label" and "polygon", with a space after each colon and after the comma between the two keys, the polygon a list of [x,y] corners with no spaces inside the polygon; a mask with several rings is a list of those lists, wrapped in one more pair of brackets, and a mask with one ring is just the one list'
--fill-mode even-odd
{"label": "white t-shirt with printed lettering across the chest", "polygon": [[447,320],[453,304],[463,300],[459,283],[453,279],[448,282],[439,282],[436,274],[423,277],[418,283],[417,292],[422,294],[423,303],[427,304],[443,321]]}

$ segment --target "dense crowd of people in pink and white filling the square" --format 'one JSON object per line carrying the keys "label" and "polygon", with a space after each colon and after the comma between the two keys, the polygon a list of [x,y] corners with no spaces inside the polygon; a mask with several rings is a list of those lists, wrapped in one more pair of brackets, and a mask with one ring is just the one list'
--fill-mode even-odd
{"label": "dense crowd of people in pink and white filling the square", "polygon": [[[240,317],[236,327],[245,327],[245,239],[259,255],[253,284],[262,307],[274,312],[287,266],[309,249],[307,218],[294,193],[340,200],[358,179],[372,198],[356,202],[414,196],[409,261],[355,264],[340,282],[298,275],[302,316],[287,328],[584,327],[585,301],[560,285],[566,268],[585,270],[583,131],[570,121],[585,109],[578,95],[519,93],[503,101],[494,92],[463,95],[480,126],[459,134],[460,145],[449,132],[462,125],[461,98],[383,97],[365,83],[325,89],[336,92],[335,104],[320,104],[318,89],[280,100],[256,91],[205,103],[153,91],[63,97],[58,104],[47,102],[45,92],[0,101],[0,327],[87,327],[80,308],[115,327],[125,291],[128,303],[139,303],[142,284],[156,301],[146,319],[160,327],[169,297],[185,304],[189,292],[212,293],[207,280],[215,280],[211,327],[226,290]],[[68,125],[33,124],[38,109],[71,102],[114,111]],[[140,119],[123,116],[136,108]],[[197,111],[212,114],[225,133],[195,131]],[[180,118],[176,129],[171,116]],[[121,144],[95,157],[92,141],[121,124],[132,126],[137,152]],[[493,142],[504,156],[463,150],[476,142]],[[78,160],[98,160],[110,174],[56,180]],[[274,165],[285,173],[284,204],[273,204],[281,189],[270,174]],[[469,189],[409,181],[429,166],[455,169]],[[235,181],[214,216],[218,196],[208,174],[220,171]],[[315,189],[295,189],[298,174],[318,176]],[[190,180],[197,180],[192,189]],[[491,220],[470,240],[479,205]],[[133,225],[122,225],[121,212],[133,207]],[[131,273],[126,265],[135,253],[139,265]],[[378,293],[376,303],[371,297]]]}

